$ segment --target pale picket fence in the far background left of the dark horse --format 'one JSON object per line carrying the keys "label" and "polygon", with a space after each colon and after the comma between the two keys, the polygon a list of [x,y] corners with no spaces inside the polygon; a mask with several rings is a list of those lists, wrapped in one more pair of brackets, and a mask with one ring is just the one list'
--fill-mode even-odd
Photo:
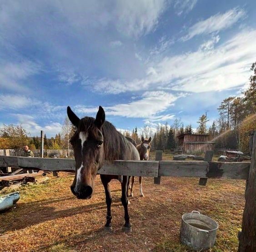
{"label": "pale picket fence in the far background left of the dark horse", "polygon": [[[32,151],[34,153],[34,157],[35,158],[40,158],[40,149],[36,149],[36,150],[33,150]],[[24,155],[24,150],[23,149],[9,149],[9,153],[10,153],[10,156],[16,156],[16,157],[19,157],[19,156],[23,156]],[[0,149],[0,156],[4,156],[5,155],[5,150],[4,149]],[[73,157],[74,156],[74,150],[70,149],[60,149],[60,150],[52,150],[52,149],[49,149],[49,150],[44,150],[44,157],[48,157],[48,158],[51,158],[53,156],[56,156],[57,158],[60,158],[60,157],[65,157],[65,156],[68,156],[68,157]]]}

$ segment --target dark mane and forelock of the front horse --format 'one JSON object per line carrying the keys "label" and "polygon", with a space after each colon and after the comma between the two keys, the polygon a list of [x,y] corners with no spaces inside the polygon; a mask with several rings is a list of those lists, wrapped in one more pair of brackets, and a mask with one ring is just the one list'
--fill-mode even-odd
{"label": "dark mane and forelock of the front horse", "polygon": [[[93,117],[87,117],[80,119],[78,125],[79,131],[91,130],[95,133],[95,136],[98,135],[98,130],[94,124],[95,119]],[[105,150],[105,159],[109,161],[120,159],[121,155],[124,153],[125,146],[129,144],[125,136],[123,136],[119,131],[116,130],[115,126],[108,121],[105,121],[101,127],[103,137],[104,137],[104,150]],[[121,153],[122,152],[122,153]]]}

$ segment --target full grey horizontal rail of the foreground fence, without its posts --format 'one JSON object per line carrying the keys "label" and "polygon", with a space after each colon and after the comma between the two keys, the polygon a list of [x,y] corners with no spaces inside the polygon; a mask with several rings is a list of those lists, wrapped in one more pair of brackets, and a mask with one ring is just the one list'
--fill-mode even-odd
{"label": "full grey horizontal rail of the foreground fence, without its posts", "polygon": [[[158,164],[159,163],[159,164]],[[25,158],[0,156],[0,166],[45,171],[75,171],[75,160],[69,158]],[[159,166],[159,168],[158,168]],[[98,173],[143,177],[199,177],[247,179],[250,163],[204,161],[124,161],[105,163]]]}

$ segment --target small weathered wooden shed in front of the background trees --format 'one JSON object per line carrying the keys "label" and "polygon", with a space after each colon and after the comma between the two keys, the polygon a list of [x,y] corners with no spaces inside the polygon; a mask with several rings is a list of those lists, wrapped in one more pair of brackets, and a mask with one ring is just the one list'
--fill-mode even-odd
{"label": "small weathered wooden shed in front of the background trees", "polygon": [[183,133],[177,136],[178,147],[183,149],[183,153],[206,152],[213,150],[214,144],[209,141],[209,135],[206,134],[188,134]]}

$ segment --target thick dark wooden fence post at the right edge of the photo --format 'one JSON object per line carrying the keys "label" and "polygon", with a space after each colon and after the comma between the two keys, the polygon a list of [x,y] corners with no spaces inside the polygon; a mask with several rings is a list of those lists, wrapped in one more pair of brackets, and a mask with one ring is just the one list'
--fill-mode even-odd
{"label": "thick dark wooden fence post at the right edge of the photo", "polygon": [[251,166],[246,180],[246,204],[243,212],[242,232],[238,252],[256,251],[256,131],[251,133]]}

